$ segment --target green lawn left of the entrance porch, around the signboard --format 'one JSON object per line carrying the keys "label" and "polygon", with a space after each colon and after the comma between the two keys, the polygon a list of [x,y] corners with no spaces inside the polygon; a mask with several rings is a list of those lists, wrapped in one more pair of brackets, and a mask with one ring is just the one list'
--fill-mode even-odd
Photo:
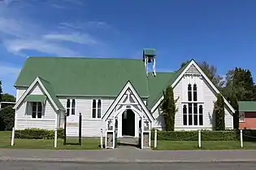
{"label": "green lawn left of the entrance porch, around the signboard", "polygon": [[63,146],[63,139],[58,139],[58,147],[54,148],[54,140],[51,139],[23,139],[15,138],[15,146],[11,147],[11,132],[0,132],[0,148],[22,148],[22,149],[63,149],[63,150],[97,150],[100,149],[100,138],[82,138],[81,146],[78,138],[67,138],[68,144]]}

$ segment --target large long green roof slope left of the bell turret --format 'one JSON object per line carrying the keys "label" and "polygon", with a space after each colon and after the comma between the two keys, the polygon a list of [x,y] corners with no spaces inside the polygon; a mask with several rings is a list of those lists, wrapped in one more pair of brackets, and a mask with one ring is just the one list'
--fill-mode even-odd
{"label": "large long green roof slope left of the bell turret", "polygon": [[15,86],[28,87],[37,76],[57,96],[117,96],[128,80],[141,97],[149,96],[142,59],[28,57]]}

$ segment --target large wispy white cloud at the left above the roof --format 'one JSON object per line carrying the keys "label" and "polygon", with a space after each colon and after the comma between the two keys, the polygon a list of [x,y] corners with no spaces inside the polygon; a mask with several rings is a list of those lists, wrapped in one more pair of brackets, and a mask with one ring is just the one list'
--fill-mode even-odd
{"label": "large wispy white cloud at the left above the roof", "polygon": [[[48,33],[53,31],[58,33]],[[26,55],[23,53],[23,50],[26,49],[36,50],[41,53],[74,56],[80,55],[80,53],[68,48],[67,45],[63,45],[63,41],[83,45],[99,44],[98,40],[94,39],[93,36],[81,30],[80,32],[69,30],[72,33],[67,34],[57,26],[53,31],[48,31],[46,28],[43,29],[39,23],[35,23],[33,20],[25,19],[24,17],[17,19],[12,15],[5,15],[0,12],[0,40],[2,45],[15,55]]]}

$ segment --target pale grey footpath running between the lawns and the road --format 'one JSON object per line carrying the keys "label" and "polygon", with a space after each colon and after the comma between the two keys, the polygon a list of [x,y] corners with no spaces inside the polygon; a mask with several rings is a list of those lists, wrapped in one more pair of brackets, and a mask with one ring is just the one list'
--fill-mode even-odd
{"label": "pale grey footpath running between the lawns and the road", "polygon": [[102,151],[0,149],[0,160],[98,163],[256,162],[256,150],[151,151],[135,147]]}

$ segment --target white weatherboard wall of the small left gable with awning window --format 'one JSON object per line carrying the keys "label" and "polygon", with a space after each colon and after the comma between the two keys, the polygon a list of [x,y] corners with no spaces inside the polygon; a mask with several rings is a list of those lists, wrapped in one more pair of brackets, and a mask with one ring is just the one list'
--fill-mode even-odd
{"label": "white weatherboard wall of the small left gable with awning window", "polygon": [[[42,95],[39,84],[28,93],[28,95]],[[50,101],[47,99],[46,104],[43,106],[43,113],[40,119],[32,118],[32,108],[27,108],[27,102],[22,102],[20,107],[15,111],[15,129],[24,130],[27,128],[40,128],[46,130],[54,130],[55,128],[55,111]]]}

